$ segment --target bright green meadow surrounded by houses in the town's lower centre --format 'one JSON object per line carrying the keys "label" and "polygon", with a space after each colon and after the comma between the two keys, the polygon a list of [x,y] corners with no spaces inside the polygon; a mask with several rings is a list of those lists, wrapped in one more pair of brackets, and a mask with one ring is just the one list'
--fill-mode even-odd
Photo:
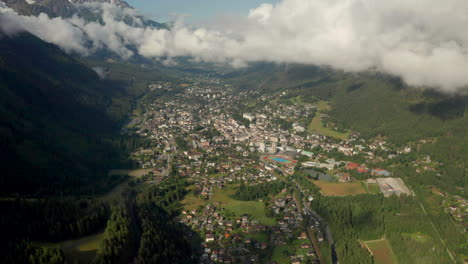
{"label": "bright green meadow surrounded by houses in the town's lower centre", "polygon": [[231,198],[234,194],[232,187],[226,189],[215,189],[213,194],[213,201],[220,202],[226,210],[234,213],[236,216],[243,214],[251,215],[254,219],[258,220],[264,225],[275,225],[276,220],[266,216],[263,203],[257,201],[239,201]]}

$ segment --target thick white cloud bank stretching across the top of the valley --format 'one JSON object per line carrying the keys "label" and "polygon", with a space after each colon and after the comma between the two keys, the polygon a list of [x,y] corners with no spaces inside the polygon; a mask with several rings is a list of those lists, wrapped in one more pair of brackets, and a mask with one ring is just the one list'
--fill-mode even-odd
{"label": "thick white cloud bank stretching across the top of the valley", "polygon": [[[446,92],[468,85],[466,0],[283,0],[237,21],[198,28],[176,23],[171,30],[142,26],[135,10],[94,9],[103,24],[4,13],[0,28],[27,30],[83,55],[106,47],[123,58],[136,50],[147,58],[191,56],[238,67],[268,61],[372,69]],[[125,24],[125,16],[136,23]]]}

